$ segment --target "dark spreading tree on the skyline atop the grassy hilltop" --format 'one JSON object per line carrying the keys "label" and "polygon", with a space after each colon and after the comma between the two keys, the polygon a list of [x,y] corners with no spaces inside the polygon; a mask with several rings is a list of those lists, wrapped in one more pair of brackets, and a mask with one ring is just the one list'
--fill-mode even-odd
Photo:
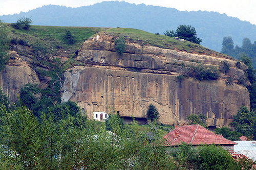
{"label": "dark spreading tree on the skyline atop the grassy hilltop", "polygon": [[166,31],[164,35],[170,36],[170,37],[179,37],[180,39],[184,39],[190,42],[194,42],[197,44],[200,44],[202,42],[202,39],[197,37],[197,31],[195,27],[192,27],[191,25],[180,25],[177,27],[176,31]]}

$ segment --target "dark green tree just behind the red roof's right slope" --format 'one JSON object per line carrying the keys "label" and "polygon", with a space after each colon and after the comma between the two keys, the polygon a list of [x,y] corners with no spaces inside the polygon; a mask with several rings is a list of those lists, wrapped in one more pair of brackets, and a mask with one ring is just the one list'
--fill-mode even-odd
{"label": "dark green tree just behind the red roof's right slope", "polygon": [[229,139],[229,140],[240,140],[239,137],[242,136],[241,133],[236,131],[231,131],[228,127],[222,127],[215,129],[216,134],[221,134],[223,137]]}

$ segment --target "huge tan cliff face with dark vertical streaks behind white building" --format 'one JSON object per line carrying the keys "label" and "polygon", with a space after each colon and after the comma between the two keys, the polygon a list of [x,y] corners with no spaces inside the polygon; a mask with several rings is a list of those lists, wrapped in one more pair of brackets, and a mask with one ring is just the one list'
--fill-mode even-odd
{"label": "huge tan cliff face with dark vertical streaks behind white building", "polygon": [[[127,43],[125,52],[114,52],[114,42],[102,36],[84,42],[74,66],[63,73],[62,101],[75,101],[87,110],[109,112],[115,107],[121,116],[146,117],[150,104],[160,113],[164,124],[186,123],[190,114],[204,114],[208,126],[226,126],[241,105],[249,108],[249,93],[237,83],[226,85],[225,78],[248,83],[247,68],[227,58],[177,52],[153,46]],[[191,75],[193,66],[221,68],[223,61],[230,65],[228,74],[217,81],[197,81]]]}

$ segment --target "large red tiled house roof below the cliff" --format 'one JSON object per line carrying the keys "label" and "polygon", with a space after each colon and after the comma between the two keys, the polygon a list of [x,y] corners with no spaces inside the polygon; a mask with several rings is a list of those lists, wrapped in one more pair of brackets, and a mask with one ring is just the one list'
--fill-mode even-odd
{"label": "large red tiled house roof below the cliff", "polygon": [[201,125],[187,125],[175,128],[167,133],[163,138],[166,139],[167,145],[179,145],[181,142],[187,144],[237,144],[231,140],[224,138],[222,135],[217,135],[214,132],[202,127]]}

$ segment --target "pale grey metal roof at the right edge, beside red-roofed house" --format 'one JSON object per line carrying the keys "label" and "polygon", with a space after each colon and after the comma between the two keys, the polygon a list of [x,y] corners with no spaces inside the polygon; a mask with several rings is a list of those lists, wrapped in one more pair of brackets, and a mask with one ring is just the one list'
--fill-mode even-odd
{"label": "pale grey metal roof at the right edge, beside red-roofed house", "polygon": [[234,152],[243,154],[256,161],[256,140],[234,141],[238,144],[234,145]]}

